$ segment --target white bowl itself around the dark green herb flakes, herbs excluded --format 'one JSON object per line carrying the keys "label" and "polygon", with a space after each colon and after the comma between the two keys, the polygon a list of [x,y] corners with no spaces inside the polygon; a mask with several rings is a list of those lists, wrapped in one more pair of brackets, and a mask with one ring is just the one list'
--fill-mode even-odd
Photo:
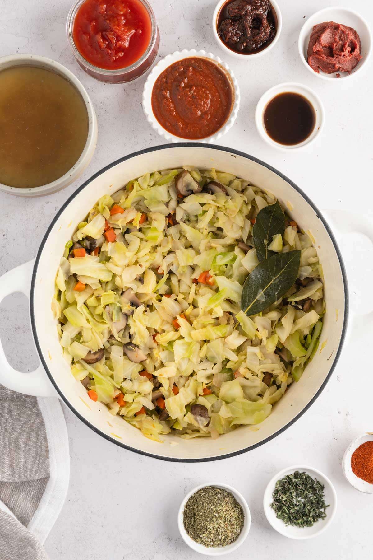
{"label": "white bowl itself around the dark green herb flakes, herbs excluded", "polygon": [[[284,478],[287,474],[294,473],[296,470],[305,472],[306,474],[309,474],[310,477],[317,478],[319,482],[324,484],[324,499],[325,503],[327,505],[329,504],[329,507],[327,507],[326,509],[327,516],[325,517],[325,519],[320,519],[312,527],[301,528],[293,527],[292,525],[285,525],[284,521],[282,521],[281,519],[277,519],[275,511],[273,511],[271,507],[272,494],[273,490],[275,489],[277,480],[280,480],[280,478]],[[272,525],[273,529],[276,529],[277,533],[281,533],[281,535],[287,536],[290,539],[311,539],[314,536],[323,533],[323,531],[333,521],[333,517],[337,511],[337,494],[333,484],[327,477],[325,477],[323,473],[320,473],[319,470],[313,469],[310,466],[294,465],[290,466],[287,469],[280,470],[280,472],[270,480],[264,493],[263,507],[268,522]]]}

